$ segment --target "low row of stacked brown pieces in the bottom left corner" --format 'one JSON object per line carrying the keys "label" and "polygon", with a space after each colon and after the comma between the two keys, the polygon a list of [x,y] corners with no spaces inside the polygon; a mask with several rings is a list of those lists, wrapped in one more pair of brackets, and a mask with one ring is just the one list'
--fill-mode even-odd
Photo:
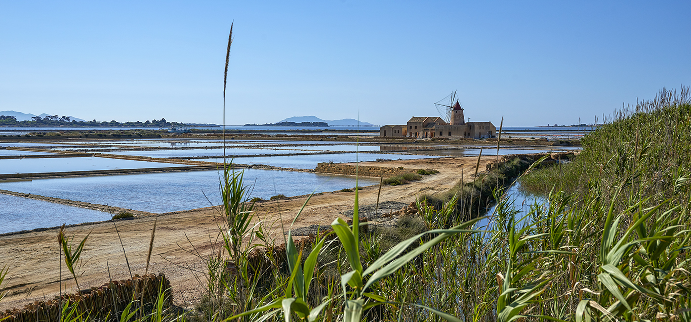
{"label": "low row of stacked brown pieces in the bottom left corner", "polygon": [[[173,303],[171,285],[164,274],[135,275],[133,279],[110,281],[100,287],[75,294],[56,296],[48,301],[35,301],[0,312],[3,322],[60,322],[64,310],[86,320],[115,321],[130,303],[136,303],[143,312],[151,311],[161,296],[163,307]],[[134,308],[132,309],[134,310]]]}

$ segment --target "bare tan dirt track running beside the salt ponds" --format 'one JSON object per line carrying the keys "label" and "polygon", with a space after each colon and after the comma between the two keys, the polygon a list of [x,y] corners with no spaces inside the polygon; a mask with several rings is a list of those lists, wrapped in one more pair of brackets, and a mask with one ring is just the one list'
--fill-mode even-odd
{"label": "bare tan dirt track running beside the salt ponds", "polygon": [[[485,169],[486,163],[495,159],[495,156],[482,157],[480,171]],[[475,172],[476,163],[477,157],[458,157],[361,164],[439,170],[439,174],[425,176],[422,181],[382,188],[380,201],[409,203],[414,201],[420,192],[440,192],[451,188],[460,180],[461,172],[464,172],[466,181],[471,179],[470,174]],[[375,203],[377,190],[378,186],[361,190],[360,203]],[[269,227],[270,235],[276,239],[276,243],[283,243],[281,224],[286,227],[290,225],[290,221],[305,200],[305,197],[296,197],[257,203],[256,215]],[[340,215],[340,212],[352,209],[353,202],[353,192],[325,192],[314,196],[295,225],[328,225]],[[177,305],[189,307],[198,302],[202,296],[200,285],[204,283],[204,276],[200,272],[205,271],[204,261],[200,257],[207,256],[214,248],[219,247],[216,238],[219,233],[218,225],[222,221],[218,220],[218,212],[214,208],[117,221],[117,230],[120,231],[126,256],[112,222],[68,228],[68,236],[74,235],[75,239],[81,240],[89,234],[82,254],[83,274],[78,279],[79,285],[82,288],[90,288],[106,283],[109,278],[129,278],[127,261],[133,274],[144,274],[151,229],[156,219],[158,228],[155,232],[149,272],[166,274],[173,285],[174,301]],[[8,296],[0,303],[0,309],[23,308],[24,304],[32,301],[50,299],[59,294],[60,288],[63,292],[65,289],[68,292],[76,290],[75,283],[71,276],[68,278],[70,273],[64,265],[62,272],[59,271],[57,231],[50,229],[0,237],[1,265],[10,265],[5,289]],[[62,283],[58,283],[59,276]]]}

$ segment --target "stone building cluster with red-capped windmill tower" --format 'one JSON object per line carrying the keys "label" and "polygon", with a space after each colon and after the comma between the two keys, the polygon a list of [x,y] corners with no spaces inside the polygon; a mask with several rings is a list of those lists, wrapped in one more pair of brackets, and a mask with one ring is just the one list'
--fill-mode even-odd
{"label": "stone building cluster with red-capped windmill tower", "polygon": [[412,117],[406,125],[384,125],[379,128],[380,137],[433,137],[488,139],[495,137],[497,128],[492,122],[466,122],[463,108],[456,102],[451,108],[449,122],[441,117]]}

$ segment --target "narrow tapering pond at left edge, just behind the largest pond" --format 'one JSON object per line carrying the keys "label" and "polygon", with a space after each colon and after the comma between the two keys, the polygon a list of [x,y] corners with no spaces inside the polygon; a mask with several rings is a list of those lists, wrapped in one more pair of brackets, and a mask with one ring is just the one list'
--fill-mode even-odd
{"label": "narrow tapering pond at left edge, just behind the largest pond", "polygon": [[182,164],[100,157],[0,160],[0,174],[181,167]]}

